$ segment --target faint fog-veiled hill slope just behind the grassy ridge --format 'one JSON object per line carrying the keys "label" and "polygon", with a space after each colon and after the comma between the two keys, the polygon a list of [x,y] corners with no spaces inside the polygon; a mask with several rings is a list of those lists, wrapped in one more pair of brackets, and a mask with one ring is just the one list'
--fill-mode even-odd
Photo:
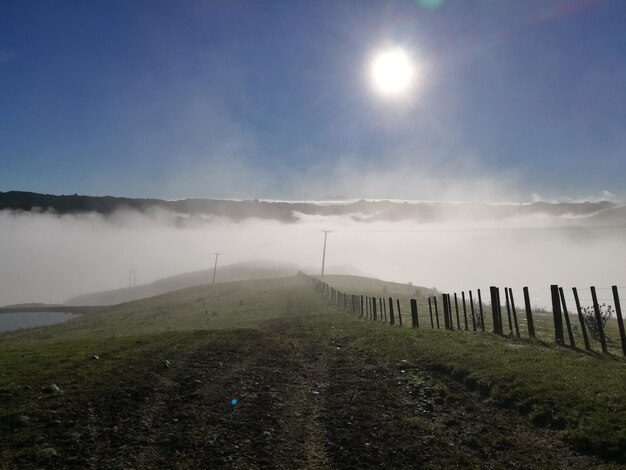
{"label": "faint fog-veiled hill slope just behind the grassy ridge", "polygon": [[[295,264],[272,261],[250,261],[245,263],[219,266],[215,282],[243,281],[248,279],[265,279],[295,276],[300,268]],[[155,295],[165,294],[187,287],[208,284],[212,282],[213,269],[204,269],[177,276],[159,279],[150,284],[143,284],[124,289],[114,289],[103,292],[72,297],[65,305],[115,305],[132,300],[139,300]]]}

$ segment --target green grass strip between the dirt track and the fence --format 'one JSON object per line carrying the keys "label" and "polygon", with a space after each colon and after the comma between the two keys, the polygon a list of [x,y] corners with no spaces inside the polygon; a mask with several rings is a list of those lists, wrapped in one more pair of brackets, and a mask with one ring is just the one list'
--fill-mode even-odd
{"label": "green grass strip between the dirt track and the fence", "polygon": [[626,459],[626,361],[492,334],[393,328],[317,317],[344,344],[390,367],[438,371],[538,425],[563,429],[578,449]]}

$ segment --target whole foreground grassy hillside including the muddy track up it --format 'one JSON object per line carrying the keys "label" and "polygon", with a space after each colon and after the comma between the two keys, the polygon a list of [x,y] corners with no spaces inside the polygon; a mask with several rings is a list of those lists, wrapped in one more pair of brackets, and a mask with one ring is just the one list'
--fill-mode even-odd
{"label": "whole foreground grassy hillside including the muddy track up it", "polygon": [[[382,285],[392,296],[415,289],[332,280],[346,290],[369,286],[373,294]],[[52,383],[63,394],[42,392]],[[401,468],[409,458],[411,465],[432,458],[444,467],[488,461],[589,468],[601,462],[577,456],[559,439],[626,462],[624,383],[626,361],[619,357],[358,320],[300,277],[197,286],[61,325],[1,334],[0,436],[6,446],[0,467],[50,466],[54,460],[43,454],[54,447],[61,466],[76,465],[78,452],[80,465],[89,465],[88,454],[112,459],[112,467],[219,467],[229,464],[212,460],[217,455],[239,455],[238,468],[367,462]],[[233,396],[242,400],[242,414],[226,419]],[[140,414],[129,421],[133,413]],[[175,445],[170,438],[157,444],[187,429],[180,423],[192,434]],[[127,455],[116,432],[120,442],[148,438]],[[263,438],[265,444],[241,454],[247,445],[242,435],[254,443],[265,432],[283,437]],[[163,445],[176,456],[155,450]],[[138,452],[147,460],[133,460]],[[193,455],[202,458],[184,460]]]}

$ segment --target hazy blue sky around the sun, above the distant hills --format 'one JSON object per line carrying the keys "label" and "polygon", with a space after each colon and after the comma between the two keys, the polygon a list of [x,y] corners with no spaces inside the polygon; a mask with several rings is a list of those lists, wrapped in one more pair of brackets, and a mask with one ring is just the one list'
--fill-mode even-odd
{"label": "hazy blue sky around the sun, above the distant hills", "polygon": [[[0,190],[626,199],[621,0],[0,0]],[[373,51],[421,64],[376,94]]]}

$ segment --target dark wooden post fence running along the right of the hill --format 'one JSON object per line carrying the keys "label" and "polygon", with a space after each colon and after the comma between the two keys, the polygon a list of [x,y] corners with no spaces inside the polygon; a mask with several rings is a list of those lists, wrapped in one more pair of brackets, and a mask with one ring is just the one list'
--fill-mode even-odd
{"label": "dark wooden post fence running along the right of the hill", "polygon": [[[422,300],[423,311],[426,307],[424,299],[410,298],[407,305],[407,299],[401,302],[400,298],[394,299],[387,296],[347,294],[321,279],[303,273],[300,275],[307,278],[313,288],[331,303],[352,312],[358,318],[389,325],[397,324],[402,327],[404,325],[402,307],[404,306],[405,312],[410,311],[411,327],[420,328],[418,300]],[[504,302],[499,287],[489,288],[489,311],[487,311],[486,303],[483,302],[483,293],[480,289],[475,291],[476,296],[471,290],[468,291],[467,296],[465,291],[461,292],[460,296],[456,292],[430,295],[427,297],[428,317],[426,319],[430,320],[431,329],[443,327],[450,331],[491,331],[502,336],[540,340],[548,340],[552,337],[556,344],[572,349],[580,349],[579,345],[583,346],[586,351],[593,351],[593,346],[599,347],[603,353],[608,353],[609,349],[611,351],[621,349],[621,354],[626,356],[626,334],[619,289],[617,286],[611,288],[613,304],[609,304],[608,307],[606,303],[601,305],[600,300],[609,299],[599,299],[597,290],[595,287],[590,288],[592,306],[583,307],[577,288],[572,288],[570,296],[562,287],[552,285],[550,286],[551,311],[533,308],[528,287],[522,289],[523,307],[520,306],[519,309],[513,289],[508,287],[505,287],[503,291]],[[438,298],[441,299],[441,304],[438,303]],[[576,309],[574,320],[570,318],[572,311],[568,307],[572,304]],[[439,305],[441,305],[441,312]],[[617,325],[607,322],[607,314],[611,316],[613,313],[615,313]],[[424,318],[422,318],[422,327],[423,324]],[[610,331],[610,336],[607,335],[607,329]],[[619,334],[619,343],[614,339],[616,334]]]}

